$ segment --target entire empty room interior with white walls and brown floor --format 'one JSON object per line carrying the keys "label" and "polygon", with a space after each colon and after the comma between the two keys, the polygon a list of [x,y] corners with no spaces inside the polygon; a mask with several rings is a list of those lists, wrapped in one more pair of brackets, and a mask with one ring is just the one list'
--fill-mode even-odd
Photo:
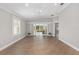
{"label": "entire empty room interior with white walls and brown floor", "polygon": [[79,3],[55,4],[0,3],[0,55],[79,55]]}

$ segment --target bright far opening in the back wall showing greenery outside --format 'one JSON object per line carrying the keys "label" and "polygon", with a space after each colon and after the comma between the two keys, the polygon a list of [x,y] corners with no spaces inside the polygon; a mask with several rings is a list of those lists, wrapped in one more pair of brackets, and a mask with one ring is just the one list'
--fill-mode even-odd
{"label": "bright far opening in the back wall showing greenery outside", "polygon": [[34,35],[47,35],[47,24],[33,24]]}

